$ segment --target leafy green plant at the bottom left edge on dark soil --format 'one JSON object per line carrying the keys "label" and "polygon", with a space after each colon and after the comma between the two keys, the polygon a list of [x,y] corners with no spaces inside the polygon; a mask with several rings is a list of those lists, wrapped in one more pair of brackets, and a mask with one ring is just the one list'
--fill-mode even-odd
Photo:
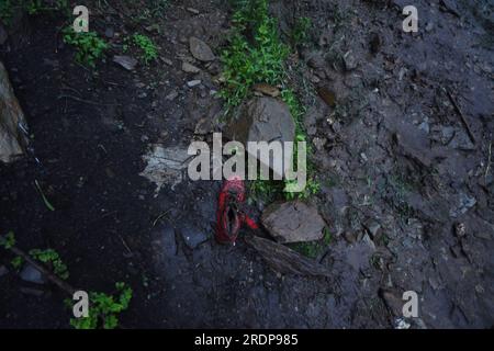
{"label": "leafy green plant at the bottom left edge on dark soil", "polygon": [[[115,284],[116,294],[106,295],[104,293],[89,293],[89,316],[82,318],[71,318],[70,325],[76,329],[114,329],[119,326],[117,315],[128,308],[132,299],[132,288],[125,283]],[[71,301],[67,302],[71,307]]]}

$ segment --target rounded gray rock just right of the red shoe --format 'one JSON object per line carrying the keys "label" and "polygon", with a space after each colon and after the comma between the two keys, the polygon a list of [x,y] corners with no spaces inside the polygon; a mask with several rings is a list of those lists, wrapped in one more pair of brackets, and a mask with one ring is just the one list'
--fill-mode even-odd
{"label": "rounded gray rock just right of the red shoe", "polygon": [[282,244],[319,240],[326,225],[315,206],[300,201],[268,206],[262,213],[261,223]]}

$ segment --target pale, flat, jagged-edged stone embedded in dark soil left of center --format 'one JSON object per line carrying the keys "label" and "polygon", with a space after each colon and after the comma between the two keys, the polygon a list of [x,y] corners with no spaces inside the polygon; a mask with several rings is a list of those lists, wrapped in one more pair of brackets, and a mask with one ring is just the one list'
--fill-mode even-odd
{"label": "pale, flat, jagged-edged stone embedded in dark soil left of center", "polygon": [[139,176],[156,184],[155,196],[165,184],[170,185],[173,190],[183,181],[183,173],[192,158],[187,151],[186,147],[165,148],[160,145],[153,145],[149,152],[143,156],[147,166]]}

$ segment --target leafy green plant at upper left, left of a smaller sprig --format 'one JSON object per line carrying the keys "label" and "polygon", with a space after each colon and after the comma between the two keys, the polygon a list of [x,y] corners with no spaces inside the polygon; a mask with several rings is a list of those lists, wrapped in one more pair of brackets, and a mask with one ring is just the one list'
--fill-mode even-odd
{"label": "leafy green plant at upper left, left of a smaller sprig", "polygon": [[76,33],[71,26],[64,31],[64,43],[76,47],[76,60],[90,67],[96,66],[96,60],[101,58],[108,49],[108,44],[96,32]]}

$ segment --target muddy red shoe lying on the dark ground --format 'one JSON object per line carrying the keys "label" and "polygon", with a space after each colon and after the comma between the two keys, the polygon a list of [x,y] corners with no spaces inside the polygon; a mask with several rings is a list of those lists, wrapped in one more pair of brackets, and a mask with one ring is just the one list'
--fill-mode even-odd
{"label": "muddy red shoe lying on the dark ground", "polygon": [[216,211],[216,241],[220,244],[235,244],[245,223],[251,229],[257,229],[257,224],[242,211],[245,202],[244,181],[234,177],[223,184],[217,201]]}

